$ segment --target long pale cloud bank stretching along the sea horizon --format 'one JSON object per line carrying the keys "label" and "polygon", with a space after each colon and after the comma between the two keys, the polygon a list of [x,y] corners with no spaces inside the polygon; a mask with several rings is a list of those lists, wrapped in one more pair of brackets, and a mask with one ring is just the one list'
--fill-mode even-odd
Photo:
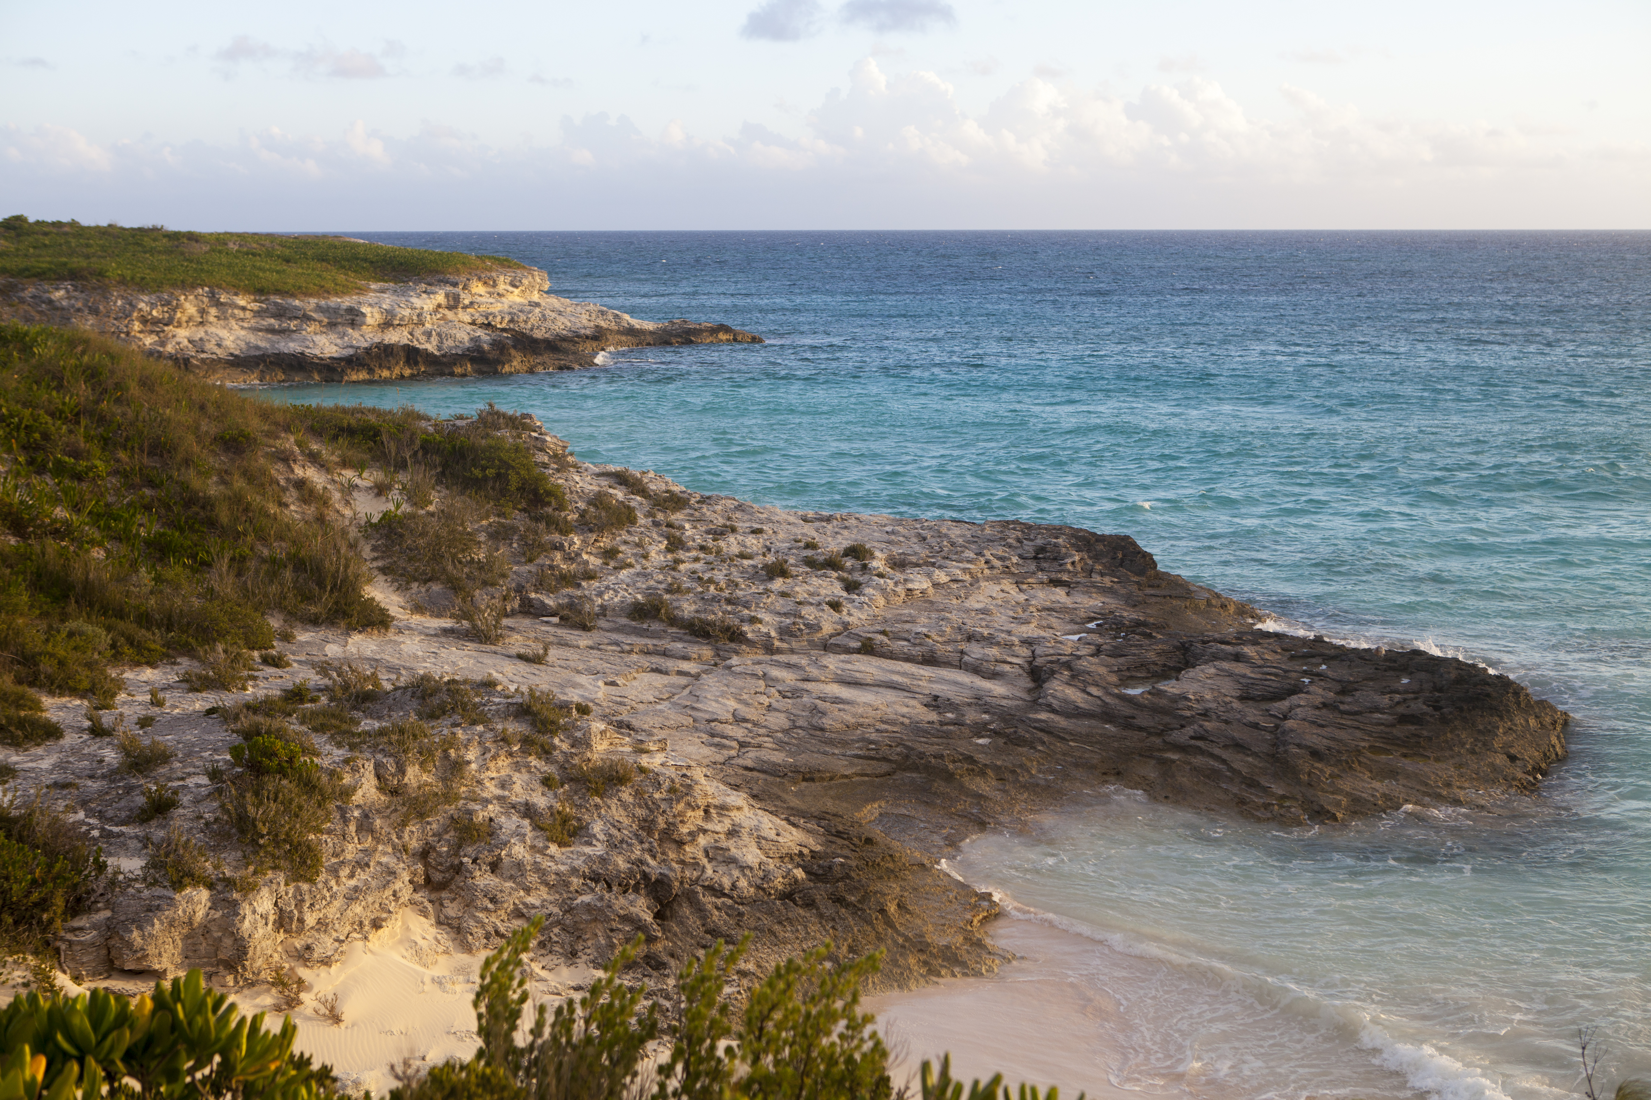
{"label": "long pale cloud bank stretching along the sea horizon", "polygon": [[1372,117],[1296,86],[1266,107],[1202,76],[1128,94],[1030,76],[972,107],[934,73],[863,58],[789,132],[703,135],[672,120],[654,134],[589,114],[497,145],[352,119],[170,145],[0,127],[0,206],[201,228],[461,228],[431,211],[485,183],[553,228],[1521,228],[1575,226],[1578,211],[1585,224],[1651,223],[1646,143]]}

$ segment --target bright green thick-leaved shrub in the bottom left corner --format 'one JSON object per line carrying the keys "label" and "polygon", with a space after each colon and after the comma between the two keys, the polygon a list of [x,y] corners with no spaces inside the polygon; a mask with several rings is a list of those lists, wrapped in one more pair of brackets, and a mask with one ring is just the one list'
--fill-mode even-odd
{"label": "bright green thick-leaved shrub in the bottom left corner", "polygon": [[263,1013],[238,1014],[198,970],[135,999],[107,990],[18,994],[0,1009],[0,1098],[342,1095],[329,1067],[292,1051],[291,1019],[271,1032]]}

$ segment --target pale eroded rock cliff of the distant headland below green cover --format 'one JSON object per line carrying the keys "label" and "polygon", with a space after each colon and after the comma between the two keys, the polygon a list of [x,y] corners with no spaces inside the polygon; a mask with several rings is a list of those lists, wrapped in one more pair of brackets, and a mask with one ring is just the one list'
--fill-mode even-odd
{"label": "pale eroded rock cliff of the distant headland below green cover", "polygon": [[0,313],[101,331],[221,383],[565,371],[609,348],[763,341],[728,325],[636,320],[548,287],[535,267],[330,299],[0,280]]}

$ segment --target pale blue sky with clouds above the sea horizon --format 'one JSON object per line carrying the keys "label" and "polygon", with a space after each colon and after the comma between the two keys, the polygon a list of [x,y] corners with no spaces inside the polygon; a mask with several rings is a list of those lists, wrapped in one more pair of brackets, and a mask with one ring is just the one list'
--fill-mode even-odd
{"label": "pale blue sky with clouds above the sea horizon", "polygon": [[0,0],[0,214],[1646,229],[1648,58],[1648,0]]}

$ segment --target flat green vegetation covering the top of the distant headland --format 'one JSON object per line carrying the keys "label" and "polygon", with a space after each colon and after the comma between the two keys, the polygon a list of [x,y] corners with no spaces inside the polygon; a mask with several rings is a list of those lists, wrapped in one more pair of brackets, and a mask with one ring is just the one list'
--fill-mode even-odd
{"label": "flat green vegetation covering the top of the distant headland", "polygon": [[370,282],[406,282],[520,269],[502,256],[431,252],[343,237],[263,233],[178,233],[83,226],[74,221],[0,221],[0,277],[76,279],[139,290],[223,287],[246,294],[320,297],[357,294]]}

